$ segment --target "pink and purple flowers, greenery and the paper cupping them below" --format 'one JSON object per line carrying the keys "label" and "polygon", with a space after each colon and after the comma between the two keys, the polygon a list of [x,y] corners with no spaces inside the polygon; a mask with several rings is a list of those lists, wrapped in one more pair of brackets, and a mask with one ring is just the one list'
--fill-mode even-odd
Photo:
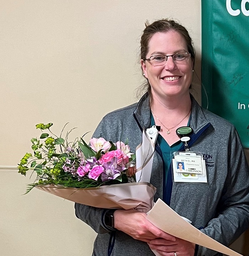
{"label": "pink and purple flowers, greenery and the paper cupping them below", "polygon": [[33,155],[26,153],[18,164],[19,173],[26,175],[32,170],[37,174],[26,193],[38,188],[99,208],[144,212],[152,208],[156,189],[147,182],[136,182],[136,156],[130,152],[128,142],[92,138],[88,145],[83,137],[68,142],[71,130],[62,138],[64,126],[58,137],[51,132],[52,125],[36,125],[52,135],[43,132],[39,139],[32,138]]}

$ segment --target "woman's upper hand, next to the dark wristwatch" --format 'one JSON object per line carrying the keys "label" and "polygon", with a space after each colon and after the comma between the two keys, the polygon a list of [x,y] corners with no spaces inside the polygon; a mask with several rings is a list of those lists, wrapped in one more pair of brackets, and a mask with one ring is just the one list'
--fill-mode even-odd
{"label": "woman's upper hand, next to the dark wristwatch", "polygon": [[171,236],[146,219],[146,214],[136,210],[116,210],[114,212],[114,227],[123,231],[134,239],[144,242],[150,242],[156,238],[162,238],[165,241],[175,241]]}

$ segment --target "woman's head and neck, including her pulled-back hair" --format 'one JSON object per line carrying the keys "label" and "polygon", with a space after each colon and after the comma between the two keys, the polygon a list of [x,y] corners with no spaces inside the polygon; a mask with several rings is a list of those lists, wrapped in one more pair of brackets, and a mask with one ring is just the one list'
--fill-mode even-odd
{"label": "woman's head and neck, including her pulled-back hair", "polygon": [[160,134],[169,145],[179,140],[175,130],[189,121],[194,63],[195,50],[185,27],[167,20],[146,27],[141,37],[141,66],[151,111],[157,124],[166,128]]}

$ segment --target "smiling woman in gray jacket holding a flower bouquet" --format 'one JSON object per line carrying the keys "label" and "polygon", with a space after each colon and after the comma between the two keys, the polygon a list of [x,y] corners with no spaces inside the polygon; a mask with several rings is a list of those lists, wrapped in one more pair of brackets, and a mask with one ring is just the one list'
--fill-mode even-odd
{"label": "smiling woman in gray jacket holding a flower bouquet", "polygon": [[[160,126],[151,183],[158,198],[203,233],[229,245],[249,223],[249,171],[232,124],[202,109],[189,93],[195,51],[187,30],[173,20],[148,25],[141,37],[141,66],[148,92],[131,106],[107,114],[93,137],[128,138],[131,151],[142,129]],[[184,151],[176,129],[190,126],[191,150],[212,155],[207,183],[172,181],[170,151]],[[160,231],[135,210],[105,210],[75,204],[76,216],[97,233],[92,255],[221,255]],[[167,216],[165,216],[166,218]],[[108,254],[107,254],[108,251]]]}

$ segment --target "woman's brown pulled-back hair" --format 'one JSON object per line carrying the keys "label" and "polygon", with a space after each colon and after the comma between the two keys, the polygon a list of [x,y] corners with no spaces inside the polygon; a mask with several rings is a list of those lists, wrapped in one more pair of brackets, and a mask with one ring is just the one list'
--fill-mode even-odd
{"label": "woman's brown pulled-back hair", "polygon": [[[195,65],[195,49],[193,46],[192,39],[189,35],[189,32],[186,30],[186,28],[179,23],[175,22],[174,20],[157,20],[154,21],[152,24],[149,24],[148,21],[145,22],[145,29],[143,31],[143,35],[141,37],[141,53],[140,53],[140,58],[145,61],[146,55],[148,53],[148,48],[149,48],[149,41],[152,38],[152,36],[157,33],[157,32],[163,32],[166,33],[168,31],[176,31],[179,34],[181,34],[187,45],[187,50],[191,54],[191,58],[193,61],[193,67]],[[143,74],[143,69],[142,69],[142,74]],[[151,87],[148,82],[148,80],[142,85],[141,90],[147,88],[147,91],[149,94],[151,94]]]}

